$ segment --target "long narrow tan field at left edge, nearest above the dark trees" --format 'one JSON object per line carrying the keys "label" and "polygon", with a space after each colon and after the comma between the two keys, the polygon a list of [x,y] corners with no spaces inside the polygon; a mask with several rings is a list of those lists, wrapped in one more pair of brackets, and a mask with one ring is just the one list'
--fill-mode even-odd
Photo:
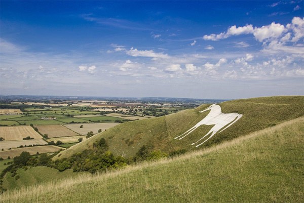
{"label": "long narrow tan field at left edge, nearest above the dark trees", "polygon": [[8,158],[10,156],[11,158],[15,156],[19,156],[21,152],[27,151],[30,154],[36,154],[37,152],[41,153],[50,153],[50,152],[56,152],[60,149],[65,149],[58,146],[48,145],[48,146],[39,146],[39,147],[24,147],[24,148],[18,148],[18,149],[11,149],[7,151],[0,151],[0,157]]}

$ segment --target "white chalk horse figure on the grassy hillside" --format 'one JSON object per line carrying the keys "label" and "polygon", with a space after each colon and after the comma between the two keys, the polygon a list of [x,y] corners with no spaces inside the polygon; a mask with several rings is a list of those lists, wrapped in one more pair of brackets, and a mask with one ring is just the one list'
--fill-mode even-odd
{"label": "white chalk horse figure on the grassy hillside", "polygon": [[[184,132],[180,136],[177,136],[175,139],[179,139],[179,140],[183,139],[184,137],[186,137],[187,135],[192,133],[195,129],[197,129],[201,125],[214,125],[205,136],[203,136],[197,142],[192,143],[192,145],[197,144],[199,141],[201,141],[202,139],[204,139],[207,135],[209,135],[211,133],[211,135],[204,142],[201,143],[201,144],[203,144],[207,140],[212,138],[224,126],[228,125],[224,129],[219,131],[218,133],[229,128],[231,125],[236,123],[236,121],[238,121],[243,116],[242,114],[238,114],[238,113],[222,113],[220,106],[217,104],[212,104],[207,109],[200,111],[200,113],[208,111],[208,110],[210,110],[210,112],[208,113],[208,115],[206,117],[204,117],[201,121],[199,121],[199,123],[197,123],[194,127],[189,129],[188,131]],[[201,144],[196,145],[196,147],[200,146]]]}

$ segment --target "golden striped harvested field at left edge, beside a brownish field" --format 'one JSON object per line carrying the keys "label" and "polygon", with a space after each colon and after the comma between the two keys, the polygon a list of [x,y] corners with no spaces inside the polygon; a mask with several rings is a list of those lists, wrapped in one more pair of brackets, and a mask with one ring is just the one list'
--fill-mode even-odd
{"label": "golden striped harvested field at left edge, beside a brownish field", "polygon": [[6,141],[22,140],[27,136],[34,139],[42,138],[41,135],[34,131],[34,129],[30,126],[0,127],[0,137],[3,137]]}

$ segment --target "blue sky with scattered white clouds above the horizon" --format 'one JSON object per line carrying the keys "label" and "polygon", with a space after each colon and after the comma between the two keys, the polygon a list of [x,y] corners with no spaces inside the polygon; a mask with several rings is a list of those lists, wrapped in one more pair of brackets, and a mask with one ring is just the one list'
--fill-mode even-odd
{"label": "blue sky with scattered white clouds above the horizon", "polygon": [[0,94],[304,95],[303,1],[0,4]]}

